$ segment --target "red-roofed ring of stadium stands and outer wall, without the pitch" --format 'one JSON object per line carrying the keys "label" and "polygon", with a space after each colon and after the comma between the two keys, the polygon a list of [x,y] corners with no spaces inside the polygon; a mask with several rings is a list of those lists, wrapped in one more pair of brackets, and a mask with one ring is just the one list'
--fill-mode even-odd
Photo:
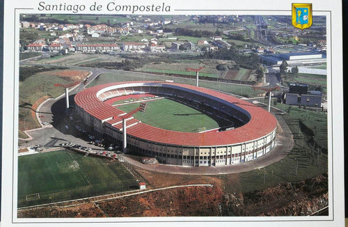
{"label": "red-roofed ring of stadium stands and outer wall, without the pitch", "polygon": [[[132,117],[132,112],[112,106],[120,97],[135,99],[146,94],[214,111],[221,118],[233,119],[237,126],[176,132],[142,123]],[[88,88],[77,93],[74,100],[77,113],[95,134],[123,144],[125,152],[129,148],[164,164],[226,166],[257,159],[275,146],[274,116],[249,102],[207,88],[159,81],[118,82]]]}

